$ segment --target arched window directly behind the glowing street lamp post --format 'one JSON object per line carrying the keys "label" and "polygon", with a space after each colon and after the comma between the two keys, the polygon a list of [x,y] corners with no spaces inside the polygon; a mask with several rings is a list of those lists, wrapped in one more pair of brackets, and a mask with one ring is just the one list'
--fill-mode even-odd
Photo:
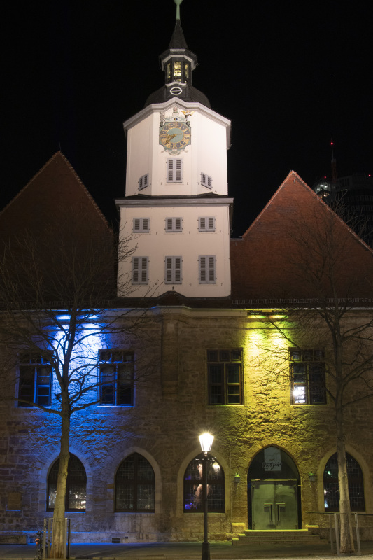
{"label": "arched window directly behind the glowing street lamp post", "polygon": [[203,512],[202,479],[207,466],[207,509],[209,512],[224,513],[224,472],[212,455],[199,454],[190,461],[184,474],[184,513]]}

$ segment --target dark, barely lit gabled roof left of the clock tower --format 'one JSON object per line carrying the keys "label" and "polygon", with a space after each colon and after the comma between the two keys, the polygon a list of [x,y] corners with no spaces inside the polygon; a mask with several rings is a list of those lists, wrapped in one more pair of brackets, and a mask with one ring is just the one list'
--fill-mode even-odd
{"label": "dark, barely lit gabled roof left of the clock tower", "polygon": [[110,299],[116,258],[111,228],[60,152],[0,214],[6,307]]}

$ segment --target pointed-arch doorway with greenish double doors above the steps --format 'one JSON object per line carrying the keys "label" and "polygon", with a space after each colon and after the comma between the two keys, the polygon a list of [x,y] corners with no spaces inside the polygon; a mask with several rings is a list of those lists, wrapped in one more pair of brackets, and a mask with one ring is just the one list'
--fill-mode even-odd
{"label": "pointed-arch doorway with greenish double doors above the steps", "polygon": [[300,475],[293,459],[278,447],[265,447],[248,469],[248,526],[281,531],[302,526]]}

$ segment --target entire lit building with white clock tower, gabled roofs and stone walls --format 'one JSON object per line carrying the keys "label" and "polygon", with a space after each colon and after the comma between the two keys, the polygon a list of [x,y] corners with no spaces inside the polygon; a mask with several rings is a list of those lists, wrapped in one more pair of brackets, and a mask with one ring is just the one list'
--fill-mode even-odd
{"label": "entire lit building with white clock tower, gabled roofs and stone walls", "polygon": [[[373,253],[295,172],[244,236],[230,240],[230,122],[191,85],[196,58],[180,20],[161,62],[164,86],[125,123],[134,148],[127,160],[127,196],[117,201],[120,231],[129,228],[137,236],[137,253],[120,265],[120,274],[127,274],[135,295],[148,296],[146,309],[156,320],[150,342],[129,343],[118,335],[113,346],[97,347],[99,381],[91,393],[97,403],[71,419],[66,516],[72,541],[201,540],[204,467],[198,435],[206,430],[215,437],[208,463],[211,540],[246,528],[311,526],[326,533],[325,513],[337,509],[338,497],[330,344],[316,315],[305,329],[304,315],[297,325],[288,310],[315,311],[317,300],[330,297],[323,278],[317,289],[309,282],[319,269],[317,258],[308,265],[303,259],[316,251],[325,223],[332,223],[341,253],[332,251],[337,300],[348,308],[346,325],[365,325],[367,332]],[[177,165],[184,166],[185,178]],[[166,170],[171,174],[163,178]],[[52,191],[51,181],[58,187]],[[30,197],[37,194],[50,214],[56,197],[63,202],[71,193],[89,208],[92,230],[97,226],[110,235],[69,162],[57,153],[3,211],[1,236],[7,238],[16,219],[26,223]],[[210,264],[202,265],[203,259]],[[150,297],[152,281],[158,283]],[[131,301],[118,298],[116,305]],[[123,388],[119,372],[136,372],[141,360],[152,367]],[[30,365],[37,370],[42,364]],[[13,382],[3,386],[6,398],[0,400],[4,539],[33,535],[52,517],[55,495],[59,417],[19,405],[24,366],[13,368]],[[360,391],[360,381],[351,385],[352,396],[364,396]],[[363,515],[373,513],[369,399],[346,408],[345,433],[351,507],[361,514],[362,538],[370,539],[370,517]]]}

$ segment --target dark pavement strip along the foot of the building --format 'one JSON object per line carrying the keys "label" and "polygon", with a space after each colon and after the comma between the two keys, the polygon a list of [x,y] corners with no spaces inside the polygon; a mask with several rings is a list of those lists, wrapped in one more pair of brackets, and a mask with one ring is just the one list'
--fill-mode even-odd
{"label": "dark pavement strip along the foot of the building", "polygon": [[[238,545],[230,542],[213,542],[210,545],[211,560],[246,560],[265,558],[291,558],[304,560],[311,556],[313,560],[335,559],[330,553],[330,545],[323,542],[318,545]],[[361,553],[364,560],[373,560],[373,542],[362,542]],[[76,560],[197,560],[201,558],[201,542],[161,542],[146,545],[109,545],[85,544],[71,545],[71,559]],[[0,545],[1,560],[34,559],[35,545]],[[346,559],[353,556],[344,556]]]}

